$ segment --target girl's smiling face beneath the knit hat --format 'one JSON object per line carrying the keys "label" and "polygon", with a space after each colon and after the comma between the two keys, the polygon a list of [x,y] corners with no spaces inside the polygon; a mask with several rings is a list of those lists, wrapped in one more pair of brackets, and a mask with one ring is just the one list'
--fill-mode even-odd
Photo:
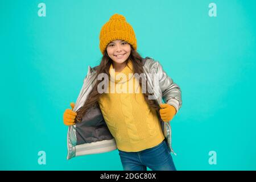
{"label": "girl's smiling face beneath the knit hat", "polygon": [[108,44],[106,51],[115,64],[122,64],[130,56],[131,46],[124,40],[117,39]]}

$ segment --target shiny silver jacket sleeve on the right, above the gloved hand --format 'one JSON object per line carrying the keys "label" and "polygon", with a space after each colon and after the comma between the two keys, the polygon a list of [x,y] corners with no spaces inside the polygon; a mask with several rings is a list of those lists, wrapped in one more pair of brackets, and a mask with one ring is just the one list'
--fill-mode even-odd
{"label": "shiny silver jacket sleeve on the right, above the gloved hand", "polygon": [[177,114],[182,105],[181,89],[179,85],[175,84],[172,81],[172,78],[164,72],[159,61],[156,61],[156,73],[158,73],[159,86],[162,90],[163,101],[174,106]]}

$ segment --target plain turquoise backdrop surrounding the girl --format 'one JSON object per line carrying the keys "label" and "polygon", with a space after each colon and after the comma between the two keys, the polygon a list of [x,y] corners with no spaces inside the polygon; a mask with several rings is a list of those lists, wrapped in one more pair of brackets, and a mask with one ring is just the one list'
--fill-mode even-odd
{"label": "plain turquoise backdrop surrounding the girl", "polygon": [[181,88],[171,121],[176,168],[255,170],[255,8],[242,0],[0,1],[0,169],[122,170],[117,150],[67,160],[63,125],[88,65],[100,63],[101,27],[118,13],[133,26],[138,52]]}

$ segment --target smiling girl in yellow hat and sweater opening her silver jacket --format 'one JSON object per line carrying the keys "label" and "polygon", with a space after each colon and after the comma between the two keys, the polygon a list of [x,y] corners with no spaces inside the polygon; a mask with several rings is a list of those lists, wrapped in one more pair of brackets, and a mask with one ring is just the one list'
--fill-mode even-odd
{"label": "smiling girl in yellow hat and sweater opening her silver jacket", "polygon": [[181,107],[179,86],[158,61],[139,55],[122,15],[102,26],[100,50],[100,65],[88,67],[76,104],[64,112],[68,159],[118,149],[124,170],[176,170],[170,121]]}

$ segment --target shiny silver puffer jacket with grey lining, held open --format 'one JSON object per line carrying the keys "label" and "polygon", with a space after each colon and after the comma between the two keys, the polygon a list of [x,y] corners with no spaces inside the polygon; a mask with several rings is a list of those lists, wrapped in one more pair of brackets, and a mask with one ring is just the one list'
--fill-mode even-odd
{"label": "shiny silver puffer jacket with grey lining, held open", "polygon": [[[79,110],[84,105],[93,86],[96,84],[96,68],[88,67],[88,73],[84,79],[76,105],[73,111]],[[143,59],[144,73],[147,75],[148,92],[154,94],[158,104],[167,103],[176,108],[178,112],[181,107],[181,90],[172,81],[162,65],[150,57]],[[150,90],[152,88],[153,90]],[[163,101],[163,102],[162,102]],[[158,114],[159,122],[162,126],[164,137],[168,142],[168,150],[172,153],[171,146],[171,126],[170,122],[164,122]],[[98,154],[117,149],[115,139],[110,133],[104,121],[100,107],[94,107],[86,111],[82,121],[68,128],[68,156],[71,159],[75,156]],[[174,153],[175,154],[175,153]]]}

